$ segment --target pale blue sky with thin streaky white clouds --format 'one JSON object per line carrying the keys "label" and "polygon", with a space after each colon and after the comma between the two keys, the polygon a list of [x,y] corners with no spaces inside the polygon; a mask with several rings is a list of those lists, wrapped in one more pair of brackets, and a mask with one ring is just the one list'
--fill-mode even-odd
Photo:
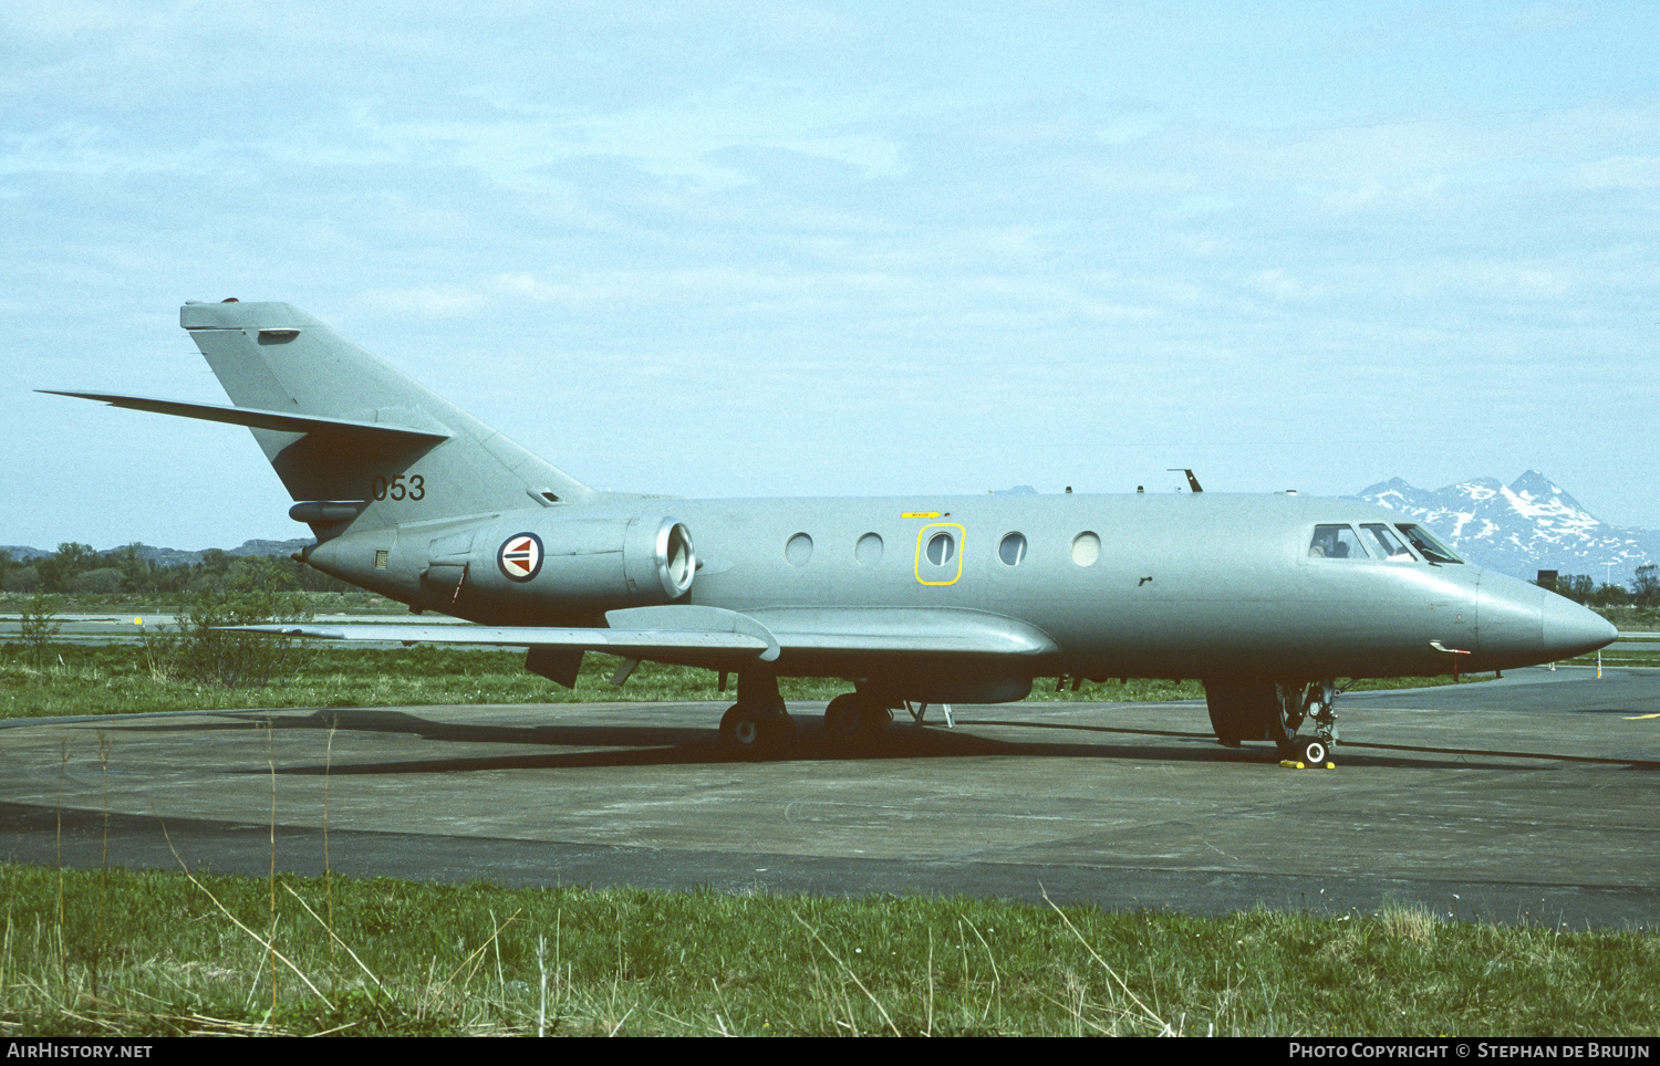
{"label": "pale blue sky with thin streaky white clouds", "polygon": [[1660,5],[0,0],[0,544],[307,535],[184,300],[601,489],[1660,529]]}

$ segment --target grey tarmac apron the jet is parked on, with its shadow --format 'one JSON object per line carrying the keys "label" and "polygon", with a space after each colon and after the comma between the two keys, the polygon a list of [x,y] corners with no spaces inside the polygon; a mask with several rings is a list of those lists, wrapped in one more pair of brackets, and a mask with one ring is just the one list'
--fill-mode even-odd
{"label": "grey tarmac apron the jet is parked on, with its shadow", "polygon": [[862,758],[798,703],[769,763],[724,754],[722,710],[5,721],[0,859],[1660,927],[1660,670],[1351,693],[1330,771],[1218,746],[1192,701],[964,706]]}

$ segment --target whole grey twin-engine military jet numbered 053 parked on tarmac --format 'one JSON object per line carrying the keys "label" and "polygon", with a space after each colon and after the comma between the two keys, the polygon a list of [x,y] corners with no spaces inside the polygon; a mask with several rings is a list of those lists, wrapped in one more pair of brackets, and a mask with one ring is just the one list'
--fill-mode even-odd
{"label": "whole grey twin-engine military jet numbered 053 parked on tarmac", "polygon": [[[584,652],[737,675],[720,736],[790,728],[780,676],[845,678],[828,736],[908,703],[1023,700],[1038,678],[1200,678],[1225,744],[1325,763],[1340,678],[1504,670],[1615,630],[1428,529],[1295,492],[692,501],[599,492],[287,303],[186,303],[234,406],[61,393],[247,426],[312,567],[478,625],[261,627]],[[696,544],[696,549],[694,549]]]}

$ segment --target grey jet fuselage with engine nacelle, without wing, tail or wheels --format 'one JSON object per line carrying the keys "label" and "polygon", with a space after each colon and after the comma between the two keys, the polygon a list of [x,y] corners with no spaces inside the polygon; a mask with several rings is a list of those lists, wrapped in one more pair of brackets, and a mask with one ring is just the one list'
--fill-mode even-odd
{"label": "grey jet fuselage with engine nacelle, without wing, tail or wheels", "polygon": [[[1401,539],[1399,519],[1290,492],[611,497],[347,534],[310,562],[493,625],[593,625],[666,602],[820,610],[827,627],[838,610],[984,612],[1052,638],[1034,676],[1411,676],[1554,661],[1614,638],[1577,603],[1467,562],[1374,540],[1315,550],[1335,529],[1351,544]],[[652,584],[644,557],[671,521],[696,550],[681,595]],[[530,579],[501,560],[521,534],[541,552]],[[850,675],[835,658],[777,666]]]}

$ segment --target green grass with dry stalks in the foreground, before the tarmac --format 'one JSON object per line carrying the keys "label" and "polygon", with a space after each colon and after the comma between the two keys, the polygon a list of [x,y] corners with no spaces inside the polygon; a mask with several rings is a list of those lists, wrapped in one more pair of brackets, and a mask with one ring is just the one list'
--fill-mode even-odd
{"label": "green grass with dry stalks in the foreground, before the tarmac", "polygon": [[0,900],[7,1036],[1660,1028],[1655,933],[1418,909],[1197,918],[23,865],[0,865]]}

